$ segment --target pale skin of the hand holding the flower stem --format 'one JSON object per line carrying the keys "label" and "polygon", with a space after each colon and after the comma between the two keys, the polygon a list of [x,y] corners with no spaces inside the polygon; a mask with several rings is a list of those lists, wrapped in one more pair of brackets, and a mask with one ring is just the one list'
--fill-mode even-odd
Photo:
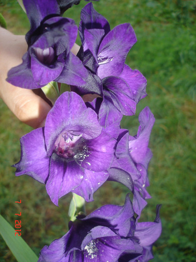
{"label": "pale skin of the hand holding the flower stem", "polygon": [[[14,35],[0,27],[0,98],[20,121],[38,128],[44,126],[51,106],[32,90],[5,81],[8,70],[22,62],[26,51],[24,35]],[[79,46],[74,44],[71,51],[76,55]]]}

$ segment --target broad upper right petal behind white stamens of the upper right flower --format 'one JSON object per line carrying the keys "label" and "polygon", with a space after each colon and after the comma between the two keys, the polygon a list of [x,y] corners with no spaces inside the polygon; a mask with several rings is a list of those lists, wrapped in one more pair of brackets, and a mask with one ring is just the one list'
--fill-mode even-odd
{"label": "broad upper right petal behind white stamens of the upper right flower", "polygon": [[[102,40],[98,50],[100,66],[98,76],[119,76],[131,47],[136,43],[136,35],[129,23],[117,25]],[[103,62],[102,62],[103,61]]]}

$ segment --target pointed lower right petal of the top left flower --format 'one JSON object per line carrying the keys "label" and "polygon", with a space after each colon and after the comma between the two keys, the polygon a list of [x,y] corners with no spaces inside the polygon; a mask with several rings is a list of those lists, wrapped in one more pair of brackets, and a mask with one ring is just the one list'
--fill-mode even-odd
{"label": "pointed lower right petal of the top left flower", "polygon": [[87,69],[83,66],[82,61],[69,52],[66,57],[64,68],[55,81],[70,85],[83,85],[88,77]]}

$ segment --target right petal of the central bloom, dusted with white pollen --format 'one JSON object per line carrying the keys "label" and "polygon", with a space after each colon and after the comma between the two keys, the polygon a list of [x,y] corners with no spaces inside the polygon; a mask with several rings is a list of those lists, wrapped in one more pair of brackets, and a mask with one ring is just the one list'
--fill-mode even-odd
{"label": "right petal of the central bloom, dusted with white pollen", "polygon": [[87,140],[87,148],[90,152],[84,161],[78,164],[85,169],[95,172],[106,171],[110,168],[114,158],[114,146],[116,140],[103,129],[101,134],[91,140]]}

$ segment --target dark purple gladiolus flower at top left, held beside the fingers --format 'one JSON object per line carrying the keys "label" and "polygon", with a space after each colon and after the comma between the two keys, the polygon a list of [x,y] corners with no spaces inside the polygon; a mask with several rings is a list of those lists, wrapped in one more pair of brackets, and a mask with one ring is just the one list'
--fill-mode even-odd
{"label": "dark purple gladiolus flower at top left, held beside the fingers", "polygon": [[9,70],[7,81],[13,85],[34,89],[51,81],[84,84],[87,70],[70,52],[77,37],[72,19],[60,17],[56,0],[23,0],[30,30],[26,34],[28,50],[23,62]]}

